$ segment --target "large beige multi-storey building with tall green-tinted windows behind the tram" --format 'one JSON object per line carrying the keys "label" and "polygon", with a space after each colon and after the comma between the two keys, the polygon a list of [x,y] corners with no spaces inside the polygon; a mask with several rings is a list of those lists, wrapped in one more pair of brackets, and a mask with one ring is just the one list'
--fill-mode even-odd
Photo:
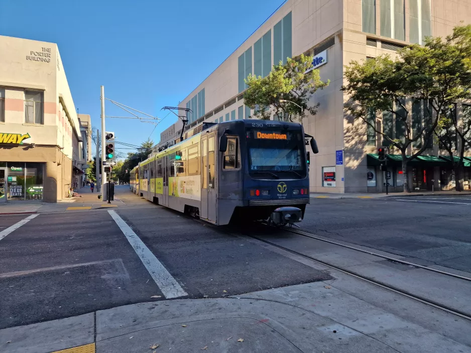
{"label": "large beige multi-storey building with tall green-tinted windows behind the tram", "polygon": [[[303,121],[306,133],[315,137],[319,147],[319,154],[311,155],[311,191],[382,191],[385,173],[374,160],[382,141],[365,123],[352,122],[344,113],[347,97],[340,91],[344,65],[395,55],[410,43],[421,44],[425,36],[450,34],[461,21],[471,23],[469,0],[288,0],[183,98],[179,107],[192,110],[189,128],[204,120],[246,119],[253,111],[244,104],[244,78],[250,73],[266,76],[274,63],[286,62],[287,57],[313,55],[315,68],[330,85],[312,97],[320,103],[318,113]],[[412,104],[410,99],[407,104]],[[462,108],[458,103],[458,114]],[[375,119],[380,124],[381,114]],[[425,154],[445,153],[432,145]],[[411,185],[451,188],[453,178],[446,166],[439,158],[420,161],[412,167]],[[402,189],[400,166],[392,161],[389,168],[390,190]]]}

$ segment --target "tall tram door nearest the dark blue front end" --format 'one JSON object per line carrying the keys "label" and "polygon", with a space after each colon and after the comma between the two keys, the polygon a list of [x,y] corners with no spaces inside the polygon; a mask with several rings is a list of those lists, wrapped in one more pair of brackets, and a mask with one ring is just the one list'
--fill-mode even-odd
{"label": "tall tram door nearest the dark blue front end", "polygon": [[215,134],[201,139],[201,207],[200,217],[216,221]]}

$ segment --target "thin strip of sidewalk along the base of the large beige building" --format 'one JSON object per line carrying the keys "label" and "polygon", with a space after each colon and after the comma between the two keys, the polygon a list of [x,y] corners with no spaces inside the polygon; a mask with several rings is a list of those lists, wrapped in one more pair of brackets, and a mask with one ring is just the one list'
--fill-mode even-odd
{"label": "thin strip of sidewalk along the base of the large beige building", "polygon": [[333,199],[349,199],[349,198],[382,198],[382,197],[410,197],[410,196],[465,196],[471,195],[471,190],[464,191],[413,191],[413,192],[390,192],[386,195],[385,192],[365,192],[365,193],[322,193],[311,192],[310,198],[333,198]]}

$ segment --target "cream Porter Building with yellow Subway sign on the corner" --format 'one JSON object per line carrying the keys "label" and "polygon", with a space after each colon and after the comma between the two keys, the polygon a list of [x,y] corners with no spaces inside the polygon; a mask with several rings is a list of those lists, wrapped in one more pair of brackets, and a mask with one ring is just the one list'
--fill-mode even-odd
{"label": "cream Porter Building with yellow Subway sign on the corner", "polygon": [[0,202],[57,202],[86,163],[59,50],[0,36],[0,53]]}

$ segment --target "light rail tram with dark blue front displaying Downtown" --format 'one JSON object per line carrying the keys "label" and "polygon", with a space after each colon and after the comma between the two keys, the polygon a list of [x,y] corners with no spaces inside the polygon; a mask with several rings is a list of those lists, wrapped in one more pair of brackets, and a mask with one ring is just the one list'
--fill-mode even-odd
{"label": "light rail tram with dark blue front displaying Downtown", "polygon": [[266,219],[301,221],[309,203],[306,144],[297,123],[203,122],[183,140],[131,171],[136,194],[217,225]]}

